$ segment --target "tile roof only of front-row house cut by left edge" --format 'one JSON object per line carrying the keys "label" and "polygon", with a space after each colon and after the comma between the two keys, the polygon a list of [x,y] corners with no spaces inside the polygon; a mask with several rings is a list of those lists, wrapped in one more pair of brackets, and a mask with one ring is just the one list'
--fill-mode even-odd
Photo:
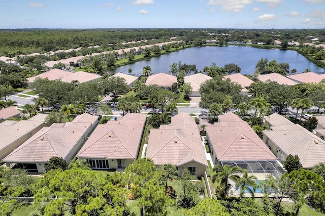
{"label": "tile roof only of front-row house cut by left edge", "polygon": [[0,150],[29,134],[45,122],[47,114],[37,114],[28,120],[9,121],[0,123]]}

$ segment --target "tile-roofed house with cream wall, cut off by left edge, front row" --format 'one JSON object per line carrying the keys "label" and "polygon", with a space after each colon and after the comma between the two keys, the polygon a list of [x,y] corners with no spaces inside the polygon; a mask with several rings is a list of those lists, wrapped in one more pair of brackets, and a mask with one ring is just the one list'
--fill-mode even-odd
{"label": "tile-roofed house with cream wall, cut off by left edge, front row", "polygon": [[37,114],[28,120],[6,120],[0,123],[0,160],[18,148],[45,126],[47,114]]}

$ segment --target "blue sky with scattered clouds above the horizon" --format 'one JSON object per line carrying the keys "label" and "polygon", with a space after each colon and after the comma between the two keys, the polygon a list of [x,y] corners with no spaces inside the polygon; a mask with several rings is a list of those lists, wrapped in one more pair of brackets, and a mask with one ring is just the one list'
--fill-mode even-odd
{"label": "blue sky with scattered clouds above the horizon", "polygon": [[1,0],[0,28],[325,28],[325,0]]}

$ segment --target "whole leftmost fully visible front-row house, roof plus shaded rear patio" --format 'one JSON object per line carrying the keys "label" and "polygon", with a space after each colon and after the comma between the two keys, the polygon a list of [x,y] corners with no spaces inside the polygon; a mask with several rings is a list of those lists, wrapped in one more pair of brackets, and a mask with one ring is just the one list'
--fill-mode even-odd
{"label": "whole leftmost fully visible front-row house, roof plus shaded rear patio", "polygon": [[71,122],[43,127],[34,136],[3,159],[9,167],[42,173],[51,157],[62,157],[68,163],[98,124],[98,116],[78,115]]}

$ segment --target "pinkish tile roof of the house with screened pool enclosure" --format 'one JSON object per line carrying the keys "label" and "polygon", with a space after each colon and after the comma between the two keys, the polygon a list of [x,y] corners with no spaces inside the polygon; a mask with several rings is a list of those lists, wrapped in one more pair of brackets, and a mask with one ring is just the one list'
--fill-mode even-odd
{"label": "pinkish tile roof of the house with screened pool enclosure", "polygon": [[206,127],[207,136],[218,160],[277,159],[253,129],[237,115],[219,115],[219,121]]}

